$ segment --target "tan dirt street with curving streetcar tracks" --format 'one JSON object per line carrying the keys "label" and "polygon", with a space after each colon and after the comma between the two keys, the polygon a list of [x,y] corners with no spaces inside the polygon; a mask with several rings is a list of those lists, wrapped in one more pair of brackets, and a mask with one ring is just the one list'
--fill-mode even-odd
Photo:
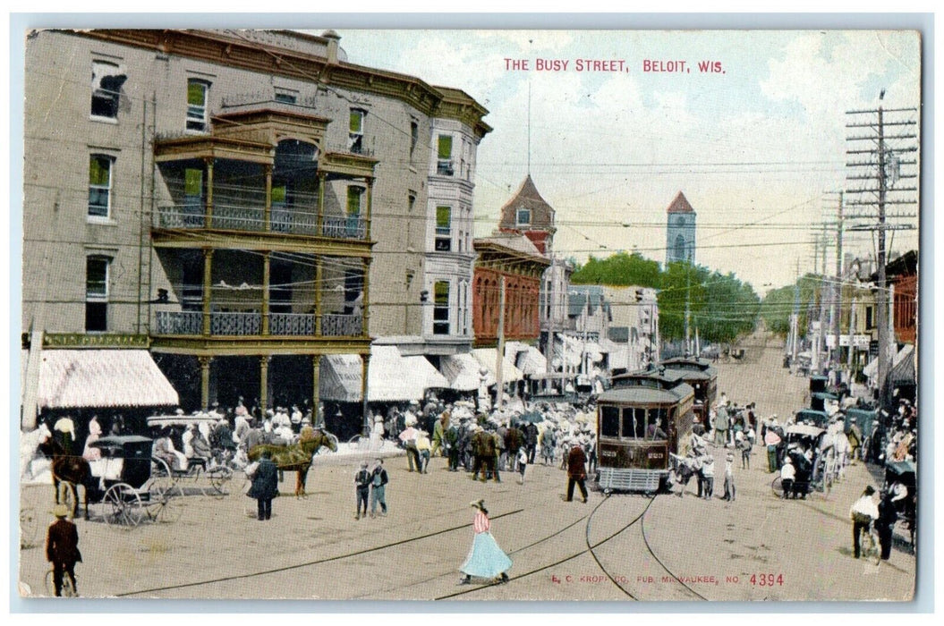
{"label": "tan dirt street with curving streetcar tracks", "polygon": [[[781,367],[772,341],[749,342],[747,362],[718,364],[718,390],[759,413],[785,417],[804,402],[806,379]],[[354,519],[353,476],[360,458],[316,464],[310,495],[281,485],[273,519],[255,519],[241,494],[242,476],[223,498],[186,496],[180,519],[115,529],[78,523],[84,561],[76,568],[87,597],[185,599],[402,600],[908,600],[915,556],[898,543],[880,566],[851,557],[849,507],[873,479],[861,464],[834,487],[806,501],[777,499],[766,455],[754,449],[750,469],[735,464],[735,502],[720,499],[724,451],[715,449],[711,502],[694,494],[614,495],[564,502],[565,471],[533,466],[482,484],[451,473],[435,458],[430,473],[407,471],[389,458],[390,514]],[[872,483],[873,484],[873,483]],[[483,498],[492,534],[514,567],[507,585],[457,585],[472,541],[469,502]],[[21,554],[21,593],[47,595],[42,535],[52,520],[51,486],[25,486],[22,503],[40,529]],[[93,514],[96,507],[93,506]]]}

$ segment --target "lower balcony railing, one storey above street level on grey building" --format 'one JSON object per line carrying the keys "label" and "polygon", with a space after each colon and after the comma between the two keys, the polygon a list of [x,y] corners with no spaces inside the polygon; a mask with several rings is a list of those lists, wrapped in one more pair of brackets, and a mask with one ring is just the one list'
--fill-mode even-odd
{"label": "lower balcony railing, one storey above street level on grey building", "polygon": [[[324,337],[360,337],[361,315],[325,314],[321,318]],[[202,335],[201,311],[158,311],[155,335]],[[276,337],[313,337],[315,316],[312,313],[270,313],[269,335]],[[259,337],[262,314],[255,312],[219,312],[210,314],[210,334],[238,337]]]}

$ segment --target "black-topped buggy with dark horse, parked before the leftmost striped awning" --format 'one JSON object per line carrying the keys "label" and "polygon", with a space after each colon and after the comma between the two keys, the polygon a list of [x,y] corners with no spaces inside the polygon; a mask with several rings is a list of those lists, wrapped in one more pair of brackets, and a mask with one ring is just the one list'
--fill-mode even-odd
{"label": "black-topped buggy with dark horse, parked before the leftmost striped awning", "polygon": [[155,472],[151,457],[153,442],[148,437],[101,437],[90,444],[98,458],[63,454],[55,440],[43,444],[43,453],[52,457],[56,502],[64,502],[75,517],[78,513],[78,486],[85,500],[85,519],[90,519],[90,502],[96,518],[130,528],[144,519],[174,522],[180,518],[182,503],[171,493],[170,484]]}

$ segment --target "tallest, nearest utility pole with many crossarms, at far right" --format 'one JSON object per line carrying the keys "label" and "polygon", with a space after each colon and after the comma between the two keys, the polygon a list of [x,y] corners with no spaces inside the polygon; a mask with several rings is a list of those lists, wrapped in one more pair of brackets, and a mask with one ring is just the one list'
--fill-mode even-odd
{"label": "tallest, nearest utility pole with many crossarms, at far right", "polygon": [[[881,102],[884,97],[885,90],[879,95],[879,101]],[[878,291],[875,297],[879,343],[877,386],[879,402],[883,405],[887,404],[886,401],[890,396],[887,379],[891,366],[892,343],[895,340],[894,331],[889,333],[888,324],[886,323],[888,319],[886,309],[888,286],[885,275],[885,256],[887,253],[885,250],[885,232],[913,228],[911,224],[889,224],[887,222],[889,219],[915,217],[913,213],[889,213],[887,208],[888,206],[916,204],[911,192],[918,189],[914,186],[897,187],[896,184],[904,178],[917,177],[917,173],[913,173],[912,170],[902,172],[902,166],[916,166],[917,160],[914,158],[903,160],[901,157],[905,153],[918,151],[917,146],[914,145],[914,140],[917,138],[913,132],[913,128],[917,123],[911,119],[902,119],[910,117],[917,110],[915,107],[884,108],[880,104],[877,109],[846,111],[847,115],[851,116],[851,123],[846,124],[847,128],[868,129],[865,135],[853,135],[846,138],[851,146],[862,145],[856,143],[858,141],[865,141],[868,145],[866,148],[854,148],[846,151],[851,159],[850,162],[846,163],[846,166],[851,168],[851,174],[846,179],[862,181],[856,184],[861,185],[861,188],[847,189],[846,193],[856,198],[850,201],[848,206],[873,208],[875,212],[847,217],[849,219],[876,220],[872,223],[853,227],[851,230],[875,231],[878,237],[876,259],[878,264]],[[886,119],[886,115],[889,115],[891,119]],[[891,130],[886,131],[888,127],[891,127]],[[901,195],[902,192],[907,192],[907,195]]]}

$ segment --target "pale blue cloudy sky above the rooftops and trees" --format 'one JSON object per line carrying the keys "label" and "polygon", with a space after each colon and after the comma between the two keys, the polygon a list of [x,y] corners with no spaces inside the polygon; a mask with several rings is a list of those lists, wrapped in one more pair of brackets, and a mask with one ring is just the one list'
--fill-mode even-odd
{"label": "pale blue cloudy sky above the rooftops and trees", "polygon": [[[761,293],[814,271],[823,222],[834,272],[839,198],[829,192],[861,185],[846,180],[846,151],[870,144],[851,145],[852,132],[869,129],[846,124],[875,120],[847,111],[877,108],[882,90],[885,108],[920,104],[915,31],[338,33],[349,62],[462,89],[489,110],[484,120],[494,130],[481,140],[475,179],[477,236],[497,226],[500,207],[530,171],[556,210],[557,254],[582,262],[637,251],[662,262],[666,208],[681,190],[698,214],[696,261]],[[528,70],[509,59],[527,60]],[[556,70],[539,69],[539,59],[558,61]],[[587,71],[580,59],[616,61],[609,65],[617,71]],[[645,72],[646,61],[676,71]],[[701,72],[701,61],[720,71]],[[888,115],[919,121],[918,112]],[[854,208],[846,214],[875,214]],[[889,243],[897,252],[915,248],[918,231],[898,231]],[[846,253],[874,249],[868,232],[847,233]]]}

